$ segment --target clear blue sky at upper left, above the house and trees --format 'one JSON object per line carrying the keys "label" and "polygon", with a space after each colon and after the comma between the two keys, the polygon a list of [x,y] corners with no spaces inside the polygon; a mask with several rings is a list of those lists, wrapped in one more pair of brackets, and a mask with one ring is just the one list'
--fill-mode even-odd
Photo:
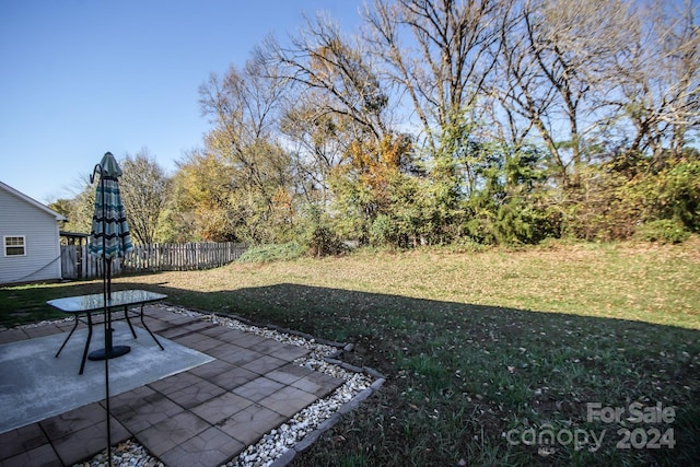
{"label": "clear blue sky at upper left, above the house and trees", "polygon": [[198,87],[242,67],[302,13],[346,33],[361,0],[0,0],[0,180],[70,198],[106,151],[148,148],[167,172],[209,129]]}

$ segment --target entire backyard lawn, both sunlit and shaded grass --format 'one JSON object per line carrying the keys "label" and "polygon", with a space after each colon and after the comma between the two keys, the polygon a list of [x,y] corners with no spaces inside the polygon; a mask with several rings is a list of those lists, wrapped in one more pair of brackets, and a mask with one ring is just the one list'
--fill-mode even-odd
{"label": "entire backyard lawn, both sunlit and shaded grass", "polygon": [[[383,389],[295,465],[698,465],[700,243],[358,253],[115,279],[168,301],[355,343]],[[98,283],[0,289],[5,325]],[[674,407],[675,447],[620,450],[586,404]],[[511,430],[606,430],[596,452]],[[515,433],[515,432],[512,432]],[[544,447],[553,447],[545,450]],[[586,446],[590,447],[590,446]]]}

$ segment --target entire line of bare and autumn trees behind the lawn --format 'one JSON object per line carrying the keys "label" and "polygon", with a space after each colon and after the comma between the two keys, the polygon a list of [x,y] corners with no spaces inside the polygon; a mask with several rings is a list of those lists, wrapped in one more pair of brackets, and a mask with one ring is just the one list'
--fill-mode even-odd
{"label": "entire line of bare and autumn trees behind the lawn", "polygon": [[[622,240],[700,230],[691,1],[374,0],[200,86],[166,176],[122,160],[140,243]],[[91,189],[54,208],[89,231]],[[90,214],[88,214],[90,213]]]}

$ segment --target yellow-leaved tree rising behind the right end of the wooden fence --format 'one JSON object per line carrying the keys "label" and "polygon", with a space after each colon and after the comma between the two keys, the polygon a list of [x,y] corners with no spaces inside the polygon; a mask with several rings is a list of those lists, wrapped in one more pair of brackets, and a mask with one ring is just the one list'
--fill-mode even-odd
{"label": "yellow-leaved tree rising behind the right end of the wooden fence", "polygon": [[255,63],[210,77],[200,89],[213,128],[182,166],[182,206],[205,240],[264,243],[291,235],[294,192],[288,152],[276,141],[281,87]]}

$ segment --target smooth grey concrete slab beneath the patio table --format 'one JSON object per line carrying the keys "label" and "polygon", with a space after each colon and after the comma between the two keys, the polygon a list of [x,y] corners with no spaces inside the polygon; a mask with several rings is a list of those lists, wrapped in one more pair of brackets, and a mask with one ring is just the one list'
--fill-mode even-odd
{"label": "smooth grey concrete slab beneath the patio table", "polygon": [[[104,347],[103,326],[93,329],[91,351]],[[128,345],[131,351],[109,360],[112,396],[213,360],[165,338],[159,339],[162,351],[138,326],[137,339],[126,323],[115,323],[114,329],[115,345]],[[105,398],[104,361],[88,360],[83,374],[78,374],[86,332],[77,330],[58,358],[54,355],[66,334],[0,345],[0,433]]]}

